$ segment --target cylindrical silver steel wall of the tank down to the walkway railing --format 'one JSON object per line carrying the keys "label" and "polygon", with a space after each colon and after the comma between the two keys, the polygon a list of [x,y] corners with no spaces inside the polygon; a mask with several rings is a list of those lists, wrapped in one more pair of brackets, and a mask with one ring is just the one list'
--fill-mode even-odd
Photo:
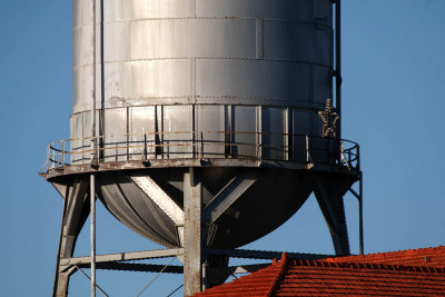
{"label": "cylindrical silver steel wall of the tank down to the walkway railing", "polygon": [[[250,135],[233,140],[278,146],[283,137],[253,133],[320,135],[316,113],[333,96],[332,14],[329,0],[106,1],[96,39],[97,135],[160,132],[178,141],[197,136],[170,132],[243,131]],[[73,0],[71,138],[91,136],[91,1]]]}

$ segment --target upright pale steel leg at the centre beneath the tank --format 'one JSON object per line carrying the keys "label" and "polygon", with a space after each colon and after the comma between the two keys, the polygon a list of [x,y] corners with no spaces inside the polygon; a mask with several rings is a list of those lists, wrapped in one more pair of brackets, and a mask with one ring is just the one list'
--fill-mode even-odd
{"label": "upright pale steel leg at the centre beneath the tank", "polygon": [[184,175],[184,296],[201,290],[201,172],[190,168]]}

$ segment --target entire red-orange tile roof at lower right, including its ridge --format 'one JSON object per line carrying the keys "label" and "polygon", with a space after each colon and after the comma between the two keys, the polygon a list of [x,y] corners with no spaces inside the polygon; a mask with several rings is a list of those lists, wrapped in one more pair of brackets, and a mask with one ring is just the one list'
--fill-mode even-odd
{"label": "entire red-orange tile roof at lower right, including its ridge", "polygon": [[444,255],[445,247],[318,261],[284,254],[279,263],[195,296],[445,296]]}

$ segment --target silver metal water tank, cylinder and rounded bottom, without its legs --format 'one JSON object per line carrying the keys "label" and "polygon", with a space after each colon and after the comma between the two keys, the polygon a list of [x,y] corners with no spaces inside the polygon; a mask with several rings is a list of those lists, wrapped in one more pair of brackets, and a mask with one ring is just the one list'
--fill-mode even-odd
{"label": "silver metal water tank, cylinder and rounded bottom, without its legs", "polygon": [[[216,159],[202,166],[206,204],[245,168],[306,161],[305,136],[320,135],[317,112],[333,97],[332,7],[329,0],[107,1],[103,51],[96,51],[97,81],[103,79],[96,102],[100,160],[147,158],[162,167],[149,181],[140,177],[146,171],[100,178],[108,209],[142,236],[180,246],[181,219],[174,215],[182,207],[180,168]],[[85,148],[92,33],[91,1],[75,0],[72,165],[91,162]],[[320,149],[312,161],[329,162],[329,141],[309,141]],[[250,242],[304,204],[312,190],[301,172],[270,167],[258,169],[256,185],[220,217],[211,246]],[[171,214],[144,191],[152,181],[171,197]]]}

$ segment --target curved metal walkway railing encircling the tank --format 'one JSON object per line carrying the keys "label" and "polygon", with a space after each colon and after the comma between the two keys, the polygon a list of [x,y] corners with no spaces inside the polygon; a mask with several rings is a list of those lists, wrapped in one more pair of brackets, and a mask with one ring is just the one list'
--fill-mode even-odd
{"label": "curved metal walkway railing encircling the tank", "polygon": [[205,158],[295,161],[359,169],[359,146],[354,141],[319,136],[243,131],[111,135],[50,143],[41,171],[93,160]]}

